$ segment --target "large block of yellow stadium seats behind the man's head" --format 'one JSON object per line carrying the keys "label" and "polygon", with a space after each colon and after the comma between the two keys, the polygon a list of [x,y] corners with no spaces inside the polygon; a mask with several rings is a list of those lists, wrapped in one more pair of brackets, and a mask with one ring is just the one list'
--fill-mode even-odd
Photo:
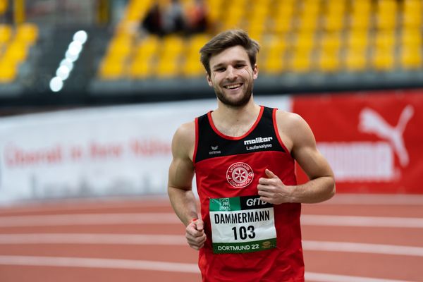
{"label": "large block of yellow stadium seats behind the man's head", "polygon": [[[99,68],[100,78],[204,75],[198,51],[210,35],[140,36],[133,28],[151,4],[152,0],[129,2]],[[262,73],[422,69],[422,0],[208,0],[207,4],[217,31],[240,27],[261,43]]]}

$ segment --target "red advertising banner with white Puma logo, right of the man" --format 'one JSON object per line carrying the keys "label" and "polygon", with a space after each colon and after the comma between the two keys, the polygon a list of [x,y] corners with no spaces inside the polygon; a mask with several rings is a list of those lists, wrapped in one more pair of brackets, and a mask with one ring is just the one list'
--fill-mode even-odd
{"label": "red advertising banner with white Puma logo, right of the man", "polygon": [[[336,177],[337,192],[423,194],[423,90],[293,98]],[[298,169],[300,183],[307,180]]]}

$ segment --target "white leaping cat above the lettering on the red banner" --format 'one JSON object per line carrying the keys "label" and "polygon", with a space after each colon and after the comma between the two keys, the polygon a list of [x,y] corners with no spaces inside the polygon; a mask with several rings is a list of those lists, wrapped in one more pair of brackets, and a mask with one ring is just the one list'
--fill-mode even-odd
{"label": "white leaping cat above the lettering on the red banner", "polygon": [[376,111],[364,108],[360,112],[358,129],[363,133],[374,133],[381,139],[387,140],[398,156],[400,165],[405,167],[409,164],[410,158],[405,148],[403,133],[413,115],[413,107],[411,105],[405,106],[398,119],[398,124],[394,127],[387,123]]}

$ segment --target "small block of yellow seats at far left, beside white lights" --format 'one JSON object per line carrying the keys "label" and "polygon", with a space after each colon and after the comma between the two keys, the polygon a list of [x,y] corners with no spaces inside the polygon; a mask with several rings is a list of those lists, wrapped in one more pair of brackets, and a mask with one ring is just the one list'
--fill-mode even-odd
{"label": "small block of yellow seats at far left, beside white lights", "polygon": [[18,68],[27,59],[37,37],[38,27],[32,23],[17,26],[0,24],[0,83],[16,79]]}

